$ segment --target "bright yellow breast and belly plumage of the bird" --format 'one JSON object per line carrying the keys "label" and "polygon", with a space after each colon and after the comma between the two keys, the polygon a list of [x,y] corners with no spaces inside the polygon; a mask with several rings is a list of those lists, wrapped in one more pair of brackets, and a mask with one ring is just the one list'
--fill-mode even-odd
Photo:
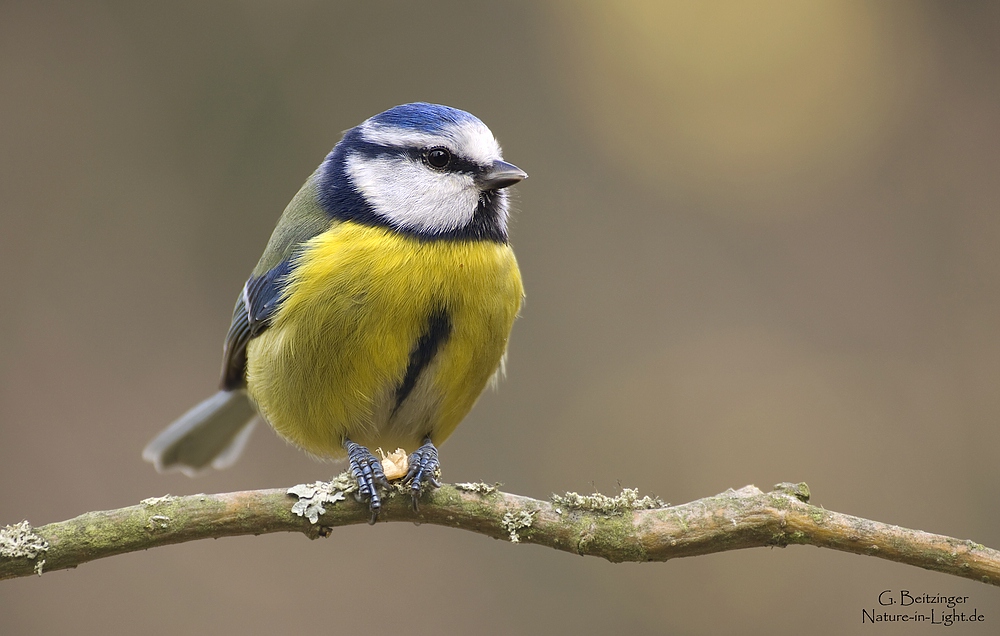
{"label": "bright yellow breast and belly plumage of the bird", "polygon": [[[508,245],[336,224],[306,243],[271,326],[247,347],[250,396],[319,456],[342,456],[345,436],[386,450],[440,443],[497,369],[523,293]],[[397,403],[441,315],[447,338]]]}

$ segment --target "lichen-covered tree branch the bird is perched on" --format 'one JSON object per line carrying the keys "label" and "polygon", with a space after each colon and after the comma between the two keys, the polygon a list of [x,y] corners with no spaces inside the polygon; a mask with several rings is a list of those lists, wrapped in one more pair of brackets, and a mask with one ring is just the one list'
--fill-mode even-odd
{"label": "lichen-covered tree branch the bird is perched on", "polygon": [[[0,529],[0,579],[209,537],[301,532],[315,539],[329,535],[337,526],[368,520],[367,507],[344,496],[351,487],[324,490],[328,487],[310,484],[291,489],[299,497],[281,489],[167,496],[35,529],[26,522],[7,526]],[[670,507],[659,507],[658,500],[640,500],[628,489],[618,497],[568,493],[547,502],[500,492],[486,484],[445,484],[425,493],[420,511],[414,512],[408,496],[395,495],[390,492],[384,503],[383,521],[462,528],[612,562],[666,561],[802,544],[1000,585],[997,550],[825,510],[808,503],[805,484],[778,484],[768,493],[746,486]],[[306,516],[293,512],[293,506]],[[310,515],[317,523],[310,522]]]}

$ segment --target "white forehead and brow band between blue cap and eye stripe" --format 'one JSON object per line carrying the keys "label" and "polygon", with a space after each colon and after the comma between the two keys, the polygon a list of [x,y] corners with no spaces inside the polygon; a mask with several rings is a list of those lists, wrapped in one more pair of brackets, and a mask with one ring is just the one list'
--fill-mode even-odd
{"label": "white forehead and brow band between blue cap and eye stripe", "polygon": [[478,120],[452,122],[433,132],[380,124],[371,120],[358,126],[358,129],[362,139],[380,146],[444,146],[461,157],[484,165],[503,158],[500,144],[493,133],[486,124]]}

